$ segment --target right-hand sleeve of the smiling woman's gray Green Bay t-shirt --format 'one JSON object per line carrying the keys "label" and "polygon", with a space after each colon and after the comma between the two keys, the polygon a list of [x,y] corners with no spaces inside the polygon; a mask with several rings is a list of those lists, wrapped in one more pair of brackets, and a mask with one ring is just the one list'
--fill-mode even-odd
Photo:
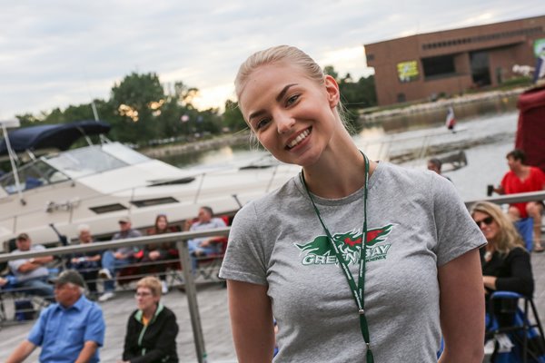
{"label": "right-hand sleeve of the smiling woman's gray Green Bay t-shirt", "polygon": [[431,191],[438,266],[486,244],[482,232],[451,182],[434,177],[431,180]]}

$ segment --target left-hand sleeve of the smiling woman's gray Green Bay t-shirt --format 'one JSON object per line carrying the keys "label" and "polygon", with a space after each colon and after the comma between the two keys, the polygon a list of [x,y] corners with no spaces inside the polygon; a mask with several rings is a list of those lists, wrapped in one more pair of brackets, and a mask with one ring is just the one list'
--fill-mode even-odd
{"label": "left-hand sleeve of the smiling woman's gray Green Bay t-shirt", "polygon": [[[267,258],[253,202],[239,211],[231,227],[220,277],[267,285]],[[266,221],[263,221],[266,222]]]}

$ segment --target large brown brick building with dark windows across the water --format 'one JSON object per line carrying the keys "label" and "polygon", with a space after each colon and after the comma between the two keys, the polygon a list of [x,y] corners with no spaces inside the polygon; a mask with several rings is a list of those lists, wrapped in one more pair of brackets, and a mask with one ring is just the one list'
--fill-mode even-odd
{"label": "large brown brick building with dark windows across the water", "polygon": [[380,105],[458,94],[509,80],[545,53],[545,15],[365,44]]}

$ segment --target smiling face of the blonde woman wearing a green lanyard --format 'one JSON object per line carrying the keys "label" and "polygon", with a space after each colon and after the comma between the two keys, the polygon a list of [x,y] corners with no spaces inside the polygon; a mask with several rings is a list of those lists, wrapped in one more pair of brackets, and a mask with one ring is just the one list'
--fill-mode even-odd
{"label": "smiling face of the blonde woman wearing a green lanyard", "polygon": [[249,75],[239,97],[244,119],[281,162],[309,166],[328,148],[336,127],[339,87],[319,84],[290,64],[267,64]]}

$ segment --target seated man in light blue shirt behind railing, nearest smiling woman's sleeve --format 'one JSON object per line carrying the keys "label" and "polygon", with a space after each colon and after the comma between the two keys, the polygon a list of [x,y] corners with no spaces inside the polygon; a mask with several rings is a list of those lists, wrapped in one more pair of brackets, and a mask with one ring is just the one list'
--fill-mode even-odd
{"label": "seated man in light blue shirt behind railing, nearest smiling woman's sleeve", "polygon": [[[191,224],[190,221],[187,221],[184,230],[206,231],[223,227],[227,227],[227,225],[221,218],[213,218],[212,208],[201,207],[199,210],[198,220],[193,224]],[[223,236],[203,237],[187,241],[187,248],[189,249],[189,253],[192,255],[193,272],[197,269],[198,257],[218,253],[219,246],[216,243],[213,243],[213,241],[222,237]]]}

